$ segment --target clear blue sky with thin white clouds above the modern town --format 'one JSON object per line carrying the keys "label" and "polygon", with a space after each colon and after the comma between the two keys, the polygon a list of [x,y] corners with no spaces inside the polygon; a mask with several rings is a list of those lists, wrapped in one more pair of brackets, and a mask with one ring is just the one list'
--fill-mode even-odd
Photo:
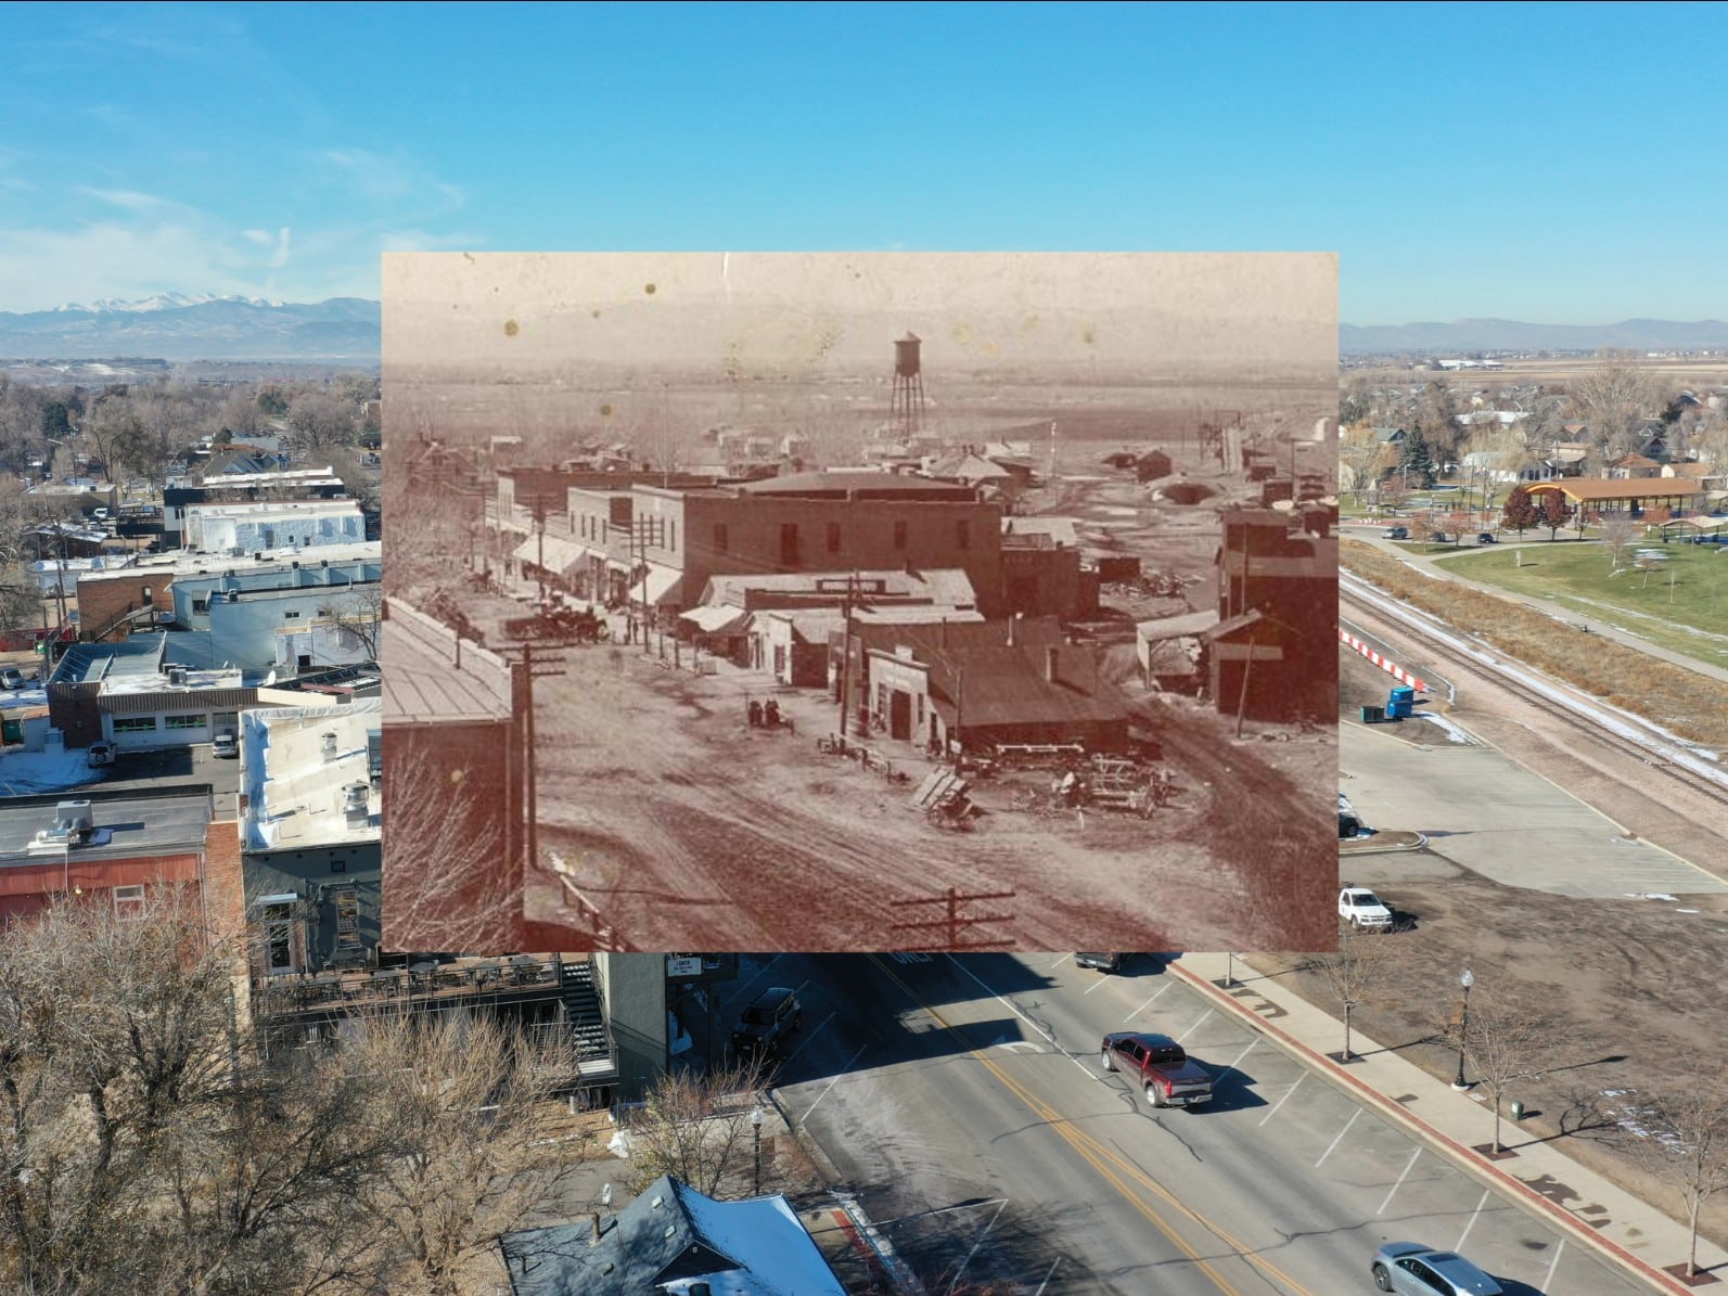
{"label": "clear blue sky with thin white clouds above the modern town", "polygon": [[1728,314],[1718,5],[0,19],[0,309],[729,247],[1336,251],[1350,323]]}

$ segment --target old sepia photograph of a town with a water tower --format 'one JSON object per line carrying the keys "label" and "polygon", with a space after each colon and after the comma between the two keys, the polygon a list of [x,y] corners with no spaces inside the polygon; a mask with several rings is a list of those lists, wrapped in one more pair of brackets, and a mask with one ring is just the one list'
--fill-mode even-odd
{"label": "old sepia photograph of a town with a water tower", "polygon": [[1331,254],[387,256],[385,943],[1336,943],[1336,330]]}

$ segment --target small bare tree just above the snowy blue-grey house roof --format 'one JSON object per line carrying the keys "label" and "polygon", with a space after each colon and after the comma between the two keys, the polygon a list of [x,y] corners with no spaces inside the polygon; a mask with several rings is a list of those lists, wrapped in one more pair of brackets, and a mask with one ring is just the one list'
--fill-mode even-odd
{"label": "small bare tree just above the snowy blue-grey house roof", "polygon": [[658,1080],[631,1121],[631,1191],[641,1192],[660,1175],[710,1198],[727,1182],[753,1182],[752,1113],[767,1101],[769,1080],[771,1064],[760,1056],[708,1075],[674,1071]]}

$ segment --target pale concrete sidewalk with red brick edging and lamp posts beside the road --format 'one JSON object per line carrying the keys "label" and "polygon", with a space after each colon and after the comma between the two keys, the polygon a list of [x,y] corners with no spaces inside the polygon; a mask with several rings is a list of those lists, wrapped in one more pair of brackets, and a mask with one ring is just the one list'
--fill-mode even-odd
{"label": "pale concrete sidewalk with red brick edging and lamp posts beside the road", "polygon": [[[1308,1004],[1277,976],[1255,971],[1236,957],[1236,985],[1225,988],[1227,956],[1182,954],[1170,971],[1204,992],[1222,1011],[1234,1013],[1255,1030],[1286,1045],[1339,1089],[1356,1094],[1394,1125],[1419,1137],[1483,1184],[1507,1189],[1534,1213],[1547,1215],[1567,1237],[1607,1255],[1647,1279],[1657,1291],[1692,1291],[1683,1279],[1664,1272],[1687,1260],[1687,1229],[1666,1213],[1638,1201],[1600,1173],[1578,1165],[1553,1142],[1519,1139],[1507,1120],[1503,1139],[1517,1156],[1491,1161],[1474,1151],[1488,1140],[1483,1104],[1458,1094],[1391,1049],[1362,1032],[1351,1032],[1358,1056],[1339,1066],[1329,1051],[1343,1042],[1343,1026],[1331,1014]],[[1393,1097],[1396,1096],[1396,1097]],[[1699,1239],[1699,1267],[1716,1277],[1728,1268],[1728,1251]]]}

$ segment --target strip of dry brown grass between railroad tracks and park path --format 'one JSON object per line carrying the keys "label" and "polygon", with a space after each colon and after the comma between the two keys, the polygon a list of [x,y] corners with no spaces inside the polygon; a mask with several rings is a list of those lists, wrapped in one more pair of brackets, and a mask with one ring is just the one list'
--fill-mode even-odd
{"label": "strip of dry brown grass between railroad tracks and park path", "polygon": [[[1583,551],[1583,546],[1578,548]],[[1602,553],[1595,556],[1605,569],[1607,556]],[[1510,567],[1510,555],[1505,560]],[[1576,626],[1512,603],[1500,594],[1426,575],[1362,541],[1344,539],[1339,546],[1339,562],[1401,603],[1439,617],[1453,629],[1491,645],[1498,653],[1572,684],[1612,707],[1654,721],[1681,738],[1714,750],[1728,750],[1728,686],[1716,679],[1598,634],[1586,636]],[[1728,558],[1723,562],[1728,563]],[[1602,584],[1609,584],[1605,570],[1600,579]],[[1654,589],[1655,575],[1650,577],[1650,586]]]}

